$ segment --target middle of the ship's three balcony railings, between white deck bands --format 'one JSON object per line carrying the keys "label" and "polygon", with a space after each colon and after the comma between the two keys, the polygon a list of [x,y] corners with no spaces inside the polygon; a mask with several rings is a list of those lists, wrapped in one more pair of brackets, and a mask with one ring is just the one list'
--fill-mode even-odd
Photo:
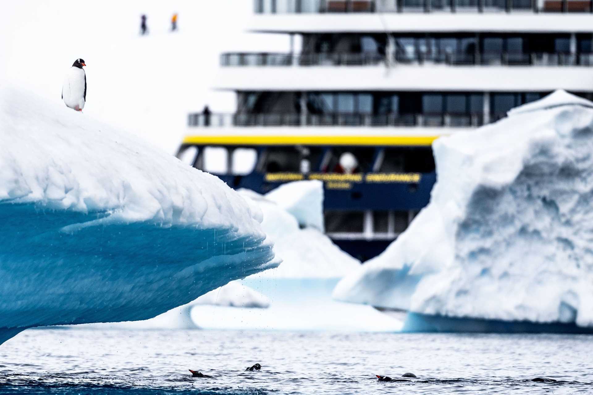
{"label": "middle of the ship's three balcony railings, between white deck bands", "polygon": [[[221,54],[221,66],[374,66],[387,57],[377,53],[244,53]],[[593,66],[592,53],[455,53],[396,52],[389,63],[476,66]]]}

